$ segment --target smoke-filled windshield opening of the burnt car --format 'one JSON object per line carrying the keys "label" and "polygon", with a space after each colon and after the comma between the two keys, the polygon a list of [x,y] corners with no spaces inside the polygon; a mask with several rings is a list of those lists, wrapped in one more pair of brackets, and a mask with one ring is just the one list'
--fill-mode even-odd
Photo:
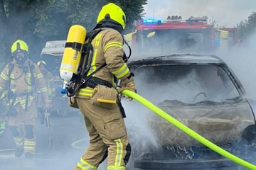
{"label": "smoke-filled windshield opening of the burnt car", "polygon": [[218,65],[178,64],[132,68],[132,72],[136,75],[139,94],[155,103],[222,102],[240,96],[233,81]]}

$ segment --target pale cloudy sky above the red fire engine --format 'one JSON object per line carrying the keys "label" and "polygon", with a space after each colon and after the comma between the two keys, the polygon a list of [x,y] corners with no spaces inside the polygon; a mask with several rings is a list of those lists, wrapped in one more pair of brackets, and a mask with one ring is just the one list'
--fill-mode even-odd
{"label": "pale cloudy sky above the red fire engine", "polygon": [[145,18],[208,16],[218,26],[233,27],[256,12],[256,0],[148,0],[144,9]]}

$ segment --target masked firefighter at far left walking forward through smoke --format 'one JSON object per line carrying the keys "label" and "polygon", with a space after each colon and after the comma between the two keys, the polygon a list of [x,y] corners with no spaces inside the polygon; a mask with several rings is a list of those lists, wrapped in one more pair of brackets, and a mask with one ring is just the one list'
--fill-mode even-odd
{"label": "masked firefighter at far left walking forward through smoke", "polygon": [[36,86],[43,92],[46,108],[50,108],[51,101],[43,74],[36,64],[28,60],[26,42],[16,40],[11,46],[11,55],[13,61],[1,72],[0,91],[4,92],[3,103],[8,108],[5,116],[16,144],[15,156],[21,157],[25,152],[25,157],[30,159],[36,147],[33,130],[37,118]]}

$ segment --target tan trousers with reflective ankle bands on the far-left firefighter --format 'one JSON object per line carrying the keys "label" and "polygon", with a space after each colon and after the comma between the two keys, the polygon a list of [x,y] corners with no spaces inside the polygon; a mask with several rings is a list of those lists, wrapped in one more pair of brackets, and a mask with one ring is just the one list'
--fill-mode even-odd
{"label": "tan trousers with reflective ankle bands on the far-left firefighter", "polygon": [[[30,152],[34,154],[36,148],[36,137],[33,132],[33,127],[36,123],[37,110],[36,103],[33,101],[28,110],[24,111],[21,106],[21,103],[17,103],[14,106],[17,115],[12,115],[7,120],[9,128],[14,137],[14,142],[16,147],[24,147],[24,152]],[[22,127],[24,125],[24,128]],[[23,133],[25,130],[25,134]]]}

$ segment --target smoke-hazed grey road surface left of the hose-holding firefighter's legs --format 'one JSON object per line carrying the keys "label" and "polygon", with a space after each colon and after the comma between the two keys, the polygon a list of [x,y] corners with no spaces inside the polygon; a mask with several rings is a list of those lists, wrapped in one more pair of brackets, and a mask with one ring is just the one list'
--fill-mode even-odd
{"label": "smoke-hazed grey road surface left of the hose-holding firefighter's legs", "polygon": [[[14,157],[14,141],[11,133],[6,130],[0,139],[0,170],[71,170],[78,163],[88,145],[85,125],[78,115],[51,118],[50,132],[52,147],[48,147],[48,129],[46,125],[36,125],[36,154],[33,159]],[[73,145],[73,142],[78,142]],[[6,150],[6,151],[4,151]]]}

